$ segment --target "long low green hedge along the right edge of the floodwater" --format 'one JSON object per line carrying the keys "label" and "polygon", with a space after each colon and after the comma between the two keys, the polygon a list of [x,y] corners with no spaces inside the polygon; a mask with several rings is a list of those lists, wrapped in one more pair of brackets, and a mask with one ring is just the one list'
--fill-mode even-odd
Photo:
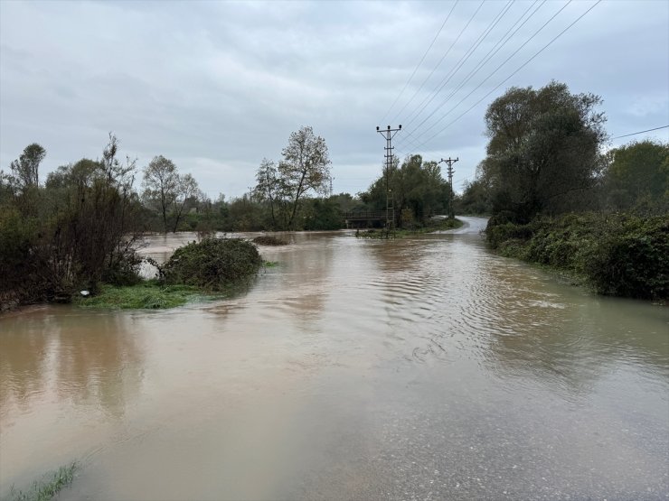
{"label": "long low green hedge along the right edge of the floodwater", "polygon": [[491,218],[488,244],[501,255],[567,272],[603,295],[666,301],[669,217],[568,214],[527,225]]}

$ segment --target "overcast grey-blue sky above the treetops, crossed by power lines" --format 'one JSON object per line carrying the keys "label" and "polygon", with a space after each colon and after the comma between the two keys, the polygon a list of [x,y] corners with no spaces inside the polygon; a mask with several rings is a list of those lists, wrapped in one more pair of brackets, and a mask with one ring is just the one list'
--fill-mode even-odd
{"label": "overcast grey-blue sky above the treetops, crossed by power lines", "polygon": [[[376,125],[401,124],[396,152],[459,157],[459,189],[485,107],[551,79],[601,96],[611,137],[669,125],[669,2],[0,0],[0,168],[37,142],[45,179],[113,131],[140,167],[162,154],[230,198],[311,125],[354,194],[381,174]],[[611,145],[646,137],[669,129]]]}

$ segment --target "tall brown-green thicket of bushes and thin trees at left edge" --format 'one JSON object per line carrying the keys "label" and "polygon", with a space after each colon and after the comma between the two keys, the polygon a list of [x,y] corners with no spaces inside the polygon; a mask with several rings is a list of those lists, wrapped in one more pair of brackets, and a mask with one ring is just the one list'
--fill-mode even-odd
{"label": "tall brown-green thicket of bushes and thin trees at left edge", "polygon": [[11,173],[0,172],[0,309],[70,302],[99,283],[137,283],[135,162],[118,161],[110,135],[101,160],[62,165],[42,185],[43,149],[37,160],[24,161],[35,148],[24,150]]}

